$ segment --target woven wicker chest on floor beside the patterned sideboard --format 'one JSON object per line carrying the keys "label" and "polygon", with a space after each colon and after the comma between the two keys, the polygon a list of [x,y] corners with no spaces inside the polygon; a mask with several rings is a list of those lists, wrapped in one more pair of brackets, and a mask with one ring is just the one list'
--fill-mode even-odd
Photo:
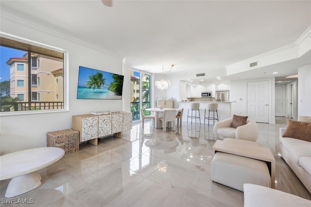
{"label": "woven wicker chest on floor beside the patterned sideboard", "polygon": [[47,146],[59,147],[65,151],[65,155],[79,151],[79,131],[65,129],[47,132]]}

